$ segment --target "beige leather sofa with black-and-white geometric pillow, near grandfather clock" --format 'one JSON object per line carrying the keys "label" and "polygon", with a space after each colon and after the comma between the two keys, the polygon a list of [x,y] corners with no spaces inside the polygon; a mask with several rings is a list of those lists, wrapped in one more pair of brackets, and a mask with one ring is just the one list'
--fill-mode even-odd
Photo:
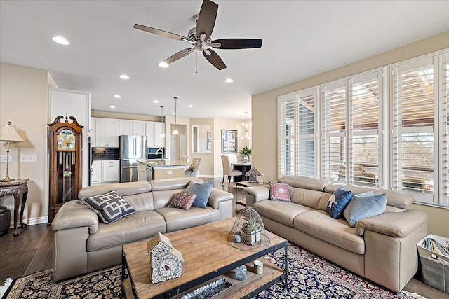
{"label": "beige leather sofa with black-and-white geometric pillow, near grandfather clock", "polygon": [[232,194],[215,188],[206,209],[167,207],[175,193],[185,190],[190,181],[202,182],[197,178],[160,179],[81,189],[80,200],[115,190],[136,212],[105,224],[80,200],[63,204],[51,223],[56,230],[55,281],[118,265],[123,244],[150,238],[157,232],[173,232],[232,217]]}

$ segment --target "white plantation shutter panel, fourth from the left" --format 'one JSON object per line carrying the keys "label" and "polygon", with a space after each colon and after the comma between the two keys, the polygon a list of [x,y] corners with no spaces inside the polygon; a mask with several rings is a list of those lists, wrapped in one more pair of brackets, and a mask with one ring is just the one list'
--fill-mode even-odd
{"label": "white plantation shutter panel, fourth from the left", "polygon": [[379,186],[382,71],[350,79],[349,177],[354,185]]}

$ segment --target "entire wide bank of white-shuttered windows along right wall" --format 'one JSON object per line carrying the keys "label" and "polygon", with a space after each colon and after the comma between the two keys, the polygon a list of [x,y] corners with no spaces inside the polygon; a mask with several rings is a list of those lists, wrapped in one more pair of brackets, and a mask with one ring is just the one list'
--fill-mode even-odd
{"label": "entire wide bank of white-shuttered windows along right wall", "polygon": [[279,176],[401,190],[449,207],[448,90],[446,49],[280,96]]}

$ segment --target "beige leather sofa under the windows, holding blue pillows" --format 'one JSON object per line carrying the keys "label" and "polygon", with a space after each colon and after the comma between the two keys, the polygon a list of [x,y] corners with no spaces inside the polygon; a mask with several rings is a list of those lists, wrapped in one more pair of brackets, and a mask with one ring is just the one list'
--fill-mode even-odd
{"label": "beige leather sofa under the windows, holding blue pillows", "polygon": [[[409,209],[412,195],[301,176],[278,182],[288,183],[292,202],[269,200],[267,186],[245,188],[246,204],[270,232],[392,291],[401,291],[417,272],[416,244],[427,235],[427,214]],[[387,193],[384,213],[364,218],[354,228],[344,218],[332,218],[326,203],[341,186],[353,194]]]}

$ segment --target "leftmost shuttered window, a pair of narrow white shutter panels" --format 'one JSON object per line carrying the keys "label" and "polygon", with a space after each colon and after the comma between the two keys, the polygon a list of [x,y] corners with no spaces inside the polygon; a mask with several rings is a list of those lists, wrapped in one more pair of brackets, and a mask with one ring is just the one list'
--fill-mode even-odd
{"label": "leftmost shuttered window, a pair of narrow white shutter panels", "polygon": [[279,176],[316,176],[316,89],[279,97]]}

